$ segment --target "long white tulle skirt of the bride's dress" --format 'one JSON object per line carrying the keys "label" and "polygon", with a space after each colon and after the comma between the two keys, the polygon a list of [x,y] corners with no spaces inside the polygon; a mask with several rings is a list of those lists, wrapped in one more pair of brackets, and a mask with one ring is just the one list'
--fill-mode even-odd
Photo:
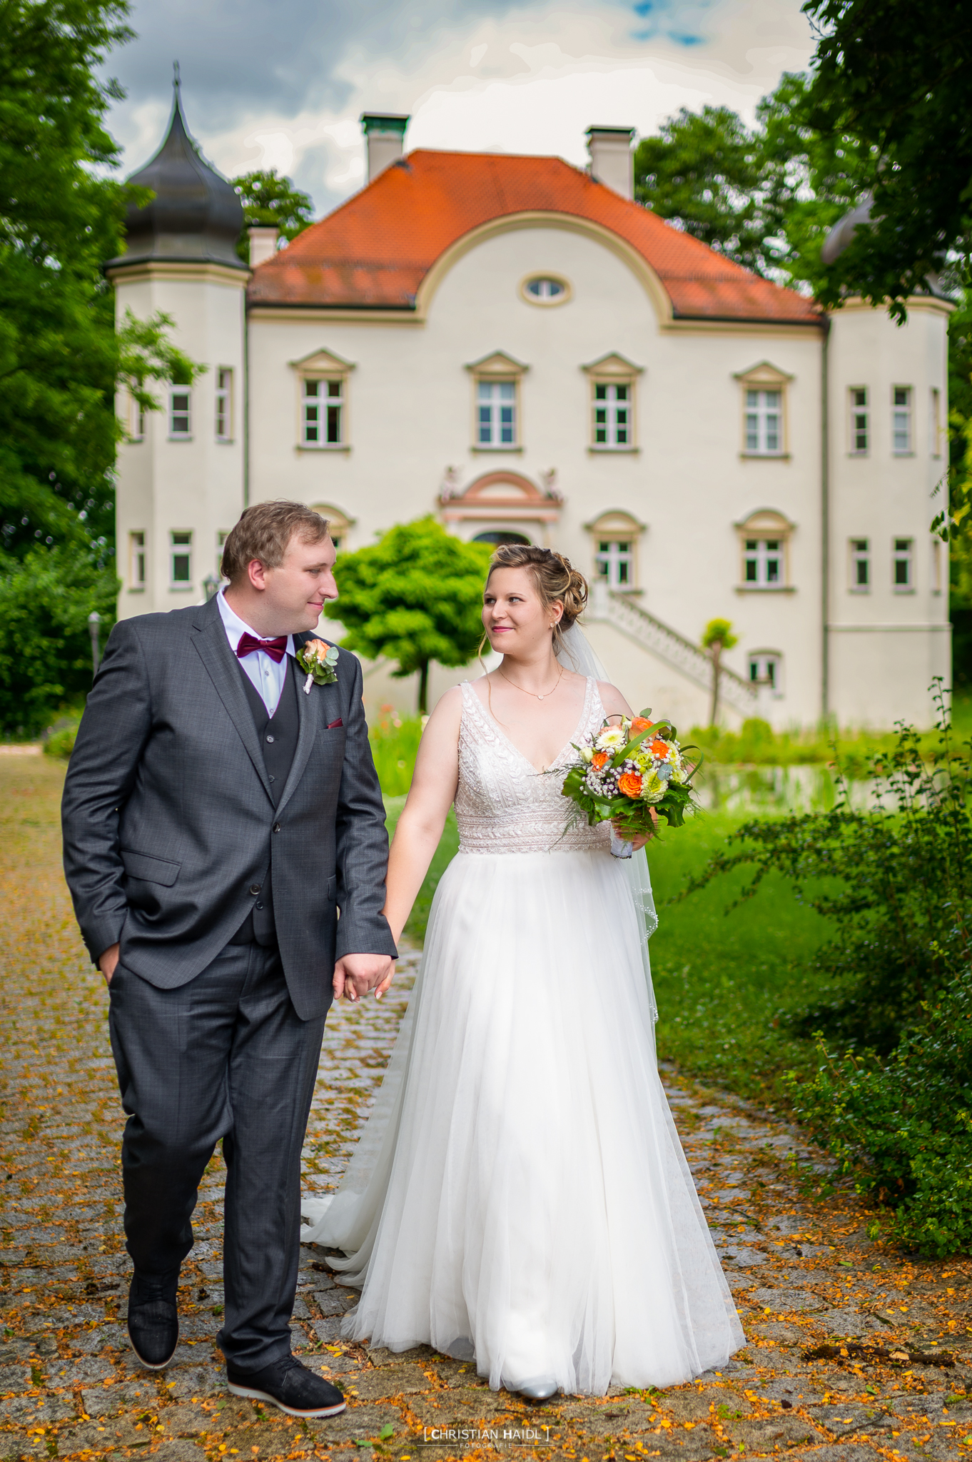
{"label": "long white tulle skirt of the bride's dress", "polygon": [[336,1194],[345,1333],[490,1386],[665,1386],[743,1330],[655,1064],[642,931],[602,851],[457,854]]}

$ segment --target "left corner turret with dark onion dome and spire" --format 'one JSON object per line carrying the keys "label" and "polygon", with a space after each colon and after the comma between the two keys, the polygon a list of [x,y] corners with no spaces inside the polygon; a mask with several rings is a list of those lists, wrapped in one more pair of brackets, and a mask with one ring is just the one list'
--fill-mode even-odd
{"label": "left corner turret with dark onion dome and spire", "polygon": [[165,140],[129,181],[153,196],[129,206],[126,250],[107,265],[115,317],[171,316],[174,342],[208,368],[191,387],[164,386],[161,411],[118,401],[120,618],[199,602],[218,582],[221,544],[244,499],[250,276],[235,251],[243,205],[189,133],[178,73]]}

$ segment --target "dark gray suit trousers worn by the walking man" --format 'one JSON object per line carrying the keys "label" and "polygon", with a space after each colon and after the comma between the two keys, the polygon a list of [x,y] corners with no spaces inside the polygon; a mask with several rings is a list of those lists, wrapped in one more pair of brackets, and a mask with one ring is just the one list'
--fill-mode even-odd
{"label": "dark gray suit trousers worn by the walking man", "polygon": [[301,1020],[276,949],[228,944],[161,990],[118,965],[111,1050],[129,1113],[124,1231],[136,1269],[164,1275],[193,1246],[199,1181],[227,1162],[224,1355],[243,1371],[289,1354],[300,1260],[300,1158],[324,1016]]}

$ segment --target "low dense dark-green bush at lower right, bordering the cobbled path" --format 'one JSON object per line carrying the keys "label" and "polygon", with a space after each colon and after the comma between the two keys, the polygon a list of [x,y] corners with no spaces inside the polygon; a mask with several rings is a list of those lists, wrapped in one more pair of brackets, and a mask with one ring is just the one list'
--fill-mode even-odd
{"label": "low dense dark-green bush at lower right, bordering the cobbled path", "polygon": [[858,1192],[892,1212],[890,1238],[943,1259],[972,1247],[972,978],[968,969],[922,1003],[892,1056],[820,1042],[823,1064],[794,1073],[794,1110],[857,1174]]}

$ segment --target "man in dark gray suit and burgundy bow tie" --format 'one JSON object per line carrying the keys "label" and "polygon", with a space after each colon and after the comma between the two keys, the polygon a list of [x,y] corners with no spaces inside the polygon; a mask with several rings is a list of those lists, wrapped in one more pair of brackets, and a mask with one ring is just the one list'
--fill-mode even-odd
{"label": "man in dark gray suit and burgundy bow tie", "polygon": [[319,513],[248,507],[224,592],[115,624],[63,801],[129,1113],[132,1345],[151,1368],[172,1358],[197,1186],[222,1139],[229,1390],[297,1417],[345,1405],[289,1342],[324,1016],[332,990],[358,999],[395,968],[361,667],[339,654],[311,683],[294,658],[338,598],[333,564]]}

